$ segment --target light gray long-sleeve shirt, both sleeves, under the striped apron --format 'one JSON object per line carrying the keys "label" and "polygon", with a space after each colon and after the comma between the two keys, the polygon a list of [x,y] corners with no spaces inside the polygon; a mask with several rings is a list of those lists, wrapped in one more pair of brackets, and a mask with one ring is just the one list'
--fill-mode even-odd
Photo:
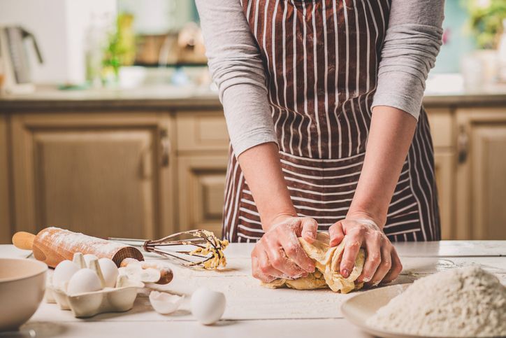
{"label": "light gray long-sleeve shirt, both sleeves, under the striped apron", "polygon": [[[277,143],[265,70],[240,1],[196,0],[196,5],[234,153]],[[443,6],[444,0],[391,0],[373,107],[392,106],[418,118],[441,45]]]}

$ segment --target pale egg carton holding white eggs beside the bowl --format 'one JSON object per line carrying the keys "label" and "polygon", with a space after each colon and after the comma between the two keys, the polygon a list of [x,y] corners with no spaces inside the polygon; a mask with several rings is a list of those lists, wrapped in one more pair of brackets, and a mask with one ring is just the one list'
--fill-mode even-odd
{"label": "pale egg carton holding white eggs beside the bowl", "polygon": [[56,303],[62,310],[71,310],[76,318],[87,318],[105,312],[124,312],[133,307],[139,290],[145,284],[140,281],[130,280],[127,276],[118,276],[114,288],[68,295],[62,288],[52,285],[48,279],[45,301]]}

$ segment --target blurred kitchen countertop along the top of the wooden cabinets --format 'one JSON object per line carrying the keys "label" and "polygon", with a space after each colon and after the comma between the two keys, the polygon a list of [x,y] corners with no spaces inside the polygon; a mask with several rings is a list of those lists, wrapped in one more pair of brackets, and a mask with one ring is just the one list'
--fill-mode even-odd
{"label": "blurred kitchen countertop along the top of the wooden cabinets", "polygon": [[[456,106],[506,106],[506,84],[485,86],[477,90],[456,89],[453,91],[431,90],[424,97],[426,107]],[[31,94],[8,94],[0,96],[0,113],[20,110],[86,110],[108,108],[138,110],[152,108],[167,110],[171,108],[219,108],[218,95],[210,87],[195,85],[143,85],[130,89],[101,90],[57,90],[55,87],[41,86]]]}

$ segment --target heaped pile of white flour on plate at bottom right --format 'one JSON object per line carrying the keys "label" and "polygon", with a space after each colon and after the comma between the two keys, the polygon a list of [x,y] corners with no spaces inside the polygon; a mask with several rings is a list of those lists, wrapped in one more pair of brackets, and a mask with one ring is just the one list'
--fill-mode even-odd
{"label": "heaped pile of white flour on plate at bottom right", "polygon": [[479,267],[415,281],[367,321],[371,328],[422,336],[506,336],[506,286]]}

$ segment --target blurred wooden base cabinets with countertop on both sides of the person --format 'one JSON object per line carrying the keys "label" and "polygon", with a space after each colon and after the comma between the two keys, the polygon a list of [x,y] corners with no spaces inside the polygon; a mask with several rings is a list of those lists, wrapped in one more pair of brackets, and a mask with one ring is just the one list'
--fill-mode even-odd
{"label": "blurred wooden base cabinets with countertop on both sides of the person", "polygon": [[[229,136],[219,100],[137,95],[0,97],[0,243],[50,225],[99,237],[221,233]],[[506,239],[506,95],[424,105],[442,239]]]}

